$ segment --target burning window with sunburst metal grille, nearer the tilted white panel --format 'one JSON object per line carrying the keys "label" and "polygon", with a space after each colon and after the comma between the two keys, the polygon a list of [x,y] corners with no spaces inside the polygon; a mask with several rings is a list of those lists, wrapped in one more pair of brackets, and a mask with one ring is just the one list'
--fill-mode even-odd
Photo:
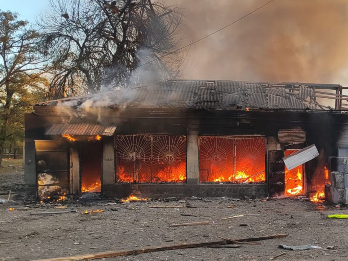
{"label": "burning window with sunburst metal grille, nearer the tilted white panel", "polygon": [[200,136],[200,182],[265,182],[266,140],[255,136]]}

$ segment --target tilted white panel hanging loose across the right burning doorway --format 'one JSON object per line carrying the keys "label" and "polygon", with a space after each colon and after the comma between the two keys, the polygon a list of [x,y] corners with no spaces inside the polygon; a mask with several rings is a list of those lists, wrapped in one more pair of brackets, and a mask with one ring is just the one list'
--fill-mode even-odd
{"label": "tilted white panel hanging loose across the right burning doorway", "polygon": [[292,155],[284,157],[283,160],[287,169],[290,171],[291,169],[296,168],[297,166],[300,166],[317,156],[319,156],[319,152],[313,144]]}

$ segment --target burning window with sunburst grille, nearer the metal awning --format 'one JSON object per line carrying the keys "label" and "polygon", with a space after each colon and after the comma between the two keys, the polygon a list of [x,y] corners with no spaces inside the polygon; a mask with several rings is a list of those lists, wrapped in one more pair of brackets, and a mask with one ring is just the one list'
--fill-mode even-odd
{"label": "burning window with sunburst grille, nearer the metal awning", "polygon": [[117,182],[185,182],[186,137],[117,135]]}

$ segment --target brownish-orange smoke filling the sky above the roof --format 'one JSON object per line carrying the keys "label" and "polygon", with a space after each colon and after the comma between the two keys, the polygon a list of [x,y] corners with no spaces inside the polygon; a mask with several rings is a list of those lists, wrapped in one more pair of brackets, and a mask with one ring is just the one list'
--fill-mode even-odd
{"label": "brownish-orange smoke filling the sky above the roof", "polygon": [[[184,14],[184,44],[268,0],[165,0]],[[274,0],[191,46],[184,78],[348,86],[348,1]]]}

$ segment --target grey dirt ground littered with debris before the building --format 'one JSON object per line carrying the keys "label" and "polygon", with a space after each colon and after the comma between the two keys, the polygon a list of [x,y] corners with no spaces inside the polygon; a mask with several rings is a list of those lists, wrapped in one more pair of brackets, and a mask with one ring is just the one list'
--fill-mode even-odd
{"label": "grey dirt ground littered with debris before the building", "polygon": [[[1,184],[8,183],[7,178],[16,182],[13,175],[0,172],[0,191]],[[17,181],[23,181],[20,171],[15,177]],[[219,240],[218,236],[246,238],[275,234],[288,236],[260,241],[260,245],[242,245],[240,248],[190,248],[97,261],[261,261],[282,252],[286,254],[276,260],[348,260],[348,221],[327,218],[328,214],[348,214],[348,209],[336,209],[328,203],[316,205],[299,199],[236,200],[174,198],[121,203],[118,199],[84,201],[71,198],[58,203],[66,206],[66,209],[53,208],[57,204],[38,202],[0,204],[0,261],[29,261],[183,242],[207,242]],[[149,207],[187,204],[192,207]],[[9,211],[7,208],[12,205],[16,208]],[[31,208],[18,208],[23,205]],[[77,210],[77,213],[30,215],[71,209]],[[86,209],[103,209],[104,212],[82,215],[81,212]],[[220,220],[240,214],[244,216]],[[209,221],[209,225],[169,227],[169,224],[198,221]],[[247,226],[241,227],[240,224]],[[323,248],[288,251],[278,248],[279,244],[311,244]],[[327,246],[337,246],[337,250],[326,250]]]}

